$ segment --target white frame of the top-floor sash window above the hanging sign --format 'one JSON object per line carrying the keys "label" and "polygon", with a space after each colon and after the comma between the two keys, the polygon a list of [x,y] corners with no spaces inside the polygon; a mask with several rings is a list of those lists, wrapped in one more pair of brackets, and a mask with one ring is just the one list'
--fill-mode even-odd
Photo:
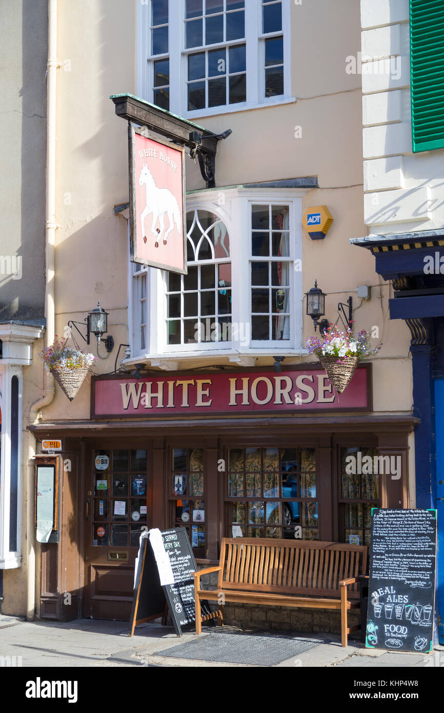
{"label": "white frame of the top-floor sash window above the hanging sign", "polygon": [[[202,116],[247,111],[265,106],[275,106],[296,101],[291,96],[291,1],[282,0],[282,31],[262,33],[261,0],[245,0],[245,37],[214,45],[185,49],[185,0],[169,0],[169,53],[151,54],[150,34],[151,0],[138,2],[138,96],[153,103],[153,62],[170,59],[170,112],[189,120]],[[284,94],[265,97],[265,40],[284,36]],[[237,104],[197,109],[187,109],[187,55],[191,52],[217,49],[241,43],[247,44],[247,101]]]}

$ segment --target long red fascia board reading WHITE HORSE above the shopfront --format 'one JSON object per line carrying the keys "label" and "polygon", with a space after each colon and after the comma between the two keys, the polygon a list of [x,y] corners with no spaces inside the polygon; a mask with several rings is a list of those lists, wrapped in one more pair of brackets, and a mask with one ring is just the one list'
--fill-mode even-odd
{"label": "long red fascia board reading WHITE HORSE above the shopfront", "polygon": [[371,411],[371,364],[338,394],[321,367],[93,378],[91,418]]}

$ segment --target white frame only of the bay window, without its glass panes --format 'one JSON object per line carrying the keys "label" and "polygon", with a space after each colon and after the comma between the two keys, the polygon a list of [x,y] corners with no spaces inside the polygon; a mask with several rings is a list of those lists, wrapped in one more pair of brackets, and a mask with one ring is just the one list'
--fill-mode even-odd
{"label": "white frame only of the bay window, without its glass panes", "polygon": [[[160,359],[182,361],[200,356],[266,356],[279,354],[296,356],[306,354],[301,346],[302,334],[302,198],[307,190],[299,188],[239,188],[210,189],[196,191],[187,196],[187,212],[207,210],[214,212],[227,226],[229,234],[229,257],[232,265],[232,323],[251,325],[251,206],[264,205],[289,206],[290,257],[294,270],[290,270],[290,339],[289,340],[251,340],[251,328],[247,339],[233,339],[232,342],[201,342],[200,344],[167,344],[167,298],[166,276],[164,270],[148,268],[147,294],[150,295],[149,319],[147,329],[146,352],[140,352],[138,342],[138,306],[137,287],[134,276],[141,274],[141,265],[134,265],[130,270],[128,292],[133,300],[131,313],[134,315],[131,333],[133,342],[131,361],[149,363],[157,366]],[[247,238],[246,238],[247,236]],[[245,275],[249,279],[245,279]],[[233,335],[235,336],[233,330]],[[244,336],[244,332],[241,336]],[[155,363],[153,363],[155,362]]]}

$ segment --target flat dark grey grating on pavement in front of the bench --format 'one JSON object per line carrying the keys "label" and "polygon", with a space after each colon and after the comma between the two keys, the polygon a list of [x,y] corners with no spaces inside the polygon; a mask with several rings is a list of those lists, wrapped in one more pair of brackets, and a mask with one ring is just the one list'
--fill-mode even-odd
{"label": "flat dark grey grating on pavement in front of the bench", "polygon": [[282,637],[272,634],[208,633],[194,641],[178,644],[154,656],[194,659],[250,666],[275,666],[324,643],[321,639]]}

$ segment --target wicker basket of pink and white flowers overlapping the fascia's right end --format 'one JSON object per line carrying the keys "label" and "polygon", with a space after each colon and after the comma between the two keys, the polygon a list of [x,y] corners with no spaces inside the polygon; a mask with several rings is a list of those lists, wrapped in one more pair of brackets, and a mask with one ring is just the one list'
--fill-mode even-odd
{"label": "wicker basket of pink and white flowers overlapping the fascia's right end", "polygon": [[379,344],[375,349],[371,348],[370,336],[366,329],[354,337],[350,327],[347,327],[346,332],[341,332],[336,324],[330,324],[324,332],[323,339],[310,337],[306,341],[306,348],[312,354],[316,354],[339,394],[349,386],[359,361],[366,356],[377,354],[381,346],[382,344]]}

